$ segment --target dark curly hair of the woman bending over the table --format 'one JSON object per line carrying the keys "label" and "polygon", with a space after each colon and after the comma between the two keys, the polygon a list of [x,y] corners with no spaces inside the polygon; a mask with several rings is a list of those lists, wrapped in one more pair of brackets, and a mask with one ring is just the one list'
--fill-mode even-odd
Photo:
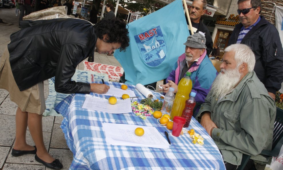
{"label": "dark curly hair of the woman bending over the table", "polygon": [[95,32],[97,37],[103,40],[103,35],[107,35],[108,39],[105,39],[107,43],[120,43],[120,51],[125,51],[129,46],[129,31],[126,28],[127,24],[122,19],[104,19],[95,24]]}

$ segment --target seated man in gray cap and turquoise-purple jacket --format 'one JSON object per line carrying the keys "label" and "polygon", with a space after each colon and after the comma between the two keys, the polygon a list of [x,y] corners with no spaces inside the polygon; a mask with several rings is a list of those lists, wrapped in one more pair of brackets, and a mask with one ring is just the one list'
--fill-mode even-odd
{"label": "seated man in gray cap and turquoise-purple jacket", "polygon": [[192,91],[196,93],[195,100],[197,103],[193,114],[195,117],[199,111],[199,106],[205,101],[217,71],[207,57],[203,32],[188,36],[184,45],[186,46],[185,53],[179,56],[172,72],[166,79],[166,84],[160,86],[163,86],[162,91],[164,93],[169,90],[169,87],[173,87],[174,93],[177,93],[178,82],[185,77],[187,71],[191,72]]}

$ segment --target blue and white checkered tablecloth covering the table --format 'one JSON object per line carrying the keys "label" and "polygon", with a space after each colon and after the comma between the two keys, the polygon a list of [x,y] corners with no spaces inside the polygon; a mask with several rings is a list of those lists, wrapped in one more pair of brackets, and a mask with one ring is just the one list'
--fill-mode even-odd
{"label": "blue and white checkered tablecloth covering the table", "polygon": [[[100,82],[101,83],[101,82]],[[117,82],[105,82],[120,87]],[[128,85],[139,98],[145,98],[135,86]],[[99,97],[109,97],[105,95]],[[149,116],[146,120],[133,113],[109,114],[82,108],[85,94],[71,94],[55,110],[64,116],[61,128],[68,147],[74,154],[71,170],[81,169],[149,169],[149,170],[187,170],[215,169],[225,170],[222,156],[205,129],[192,118],[188,129],[194,129],[205,139],[204,145],[193,144],[188,134],[172,136],[172,131],[157,123]],[[139,99],[140,100],[140,99]],[[167,131],[171,141],[169,149],[113,146],[106,143],[103,122],[154,126],[164,138]]]}

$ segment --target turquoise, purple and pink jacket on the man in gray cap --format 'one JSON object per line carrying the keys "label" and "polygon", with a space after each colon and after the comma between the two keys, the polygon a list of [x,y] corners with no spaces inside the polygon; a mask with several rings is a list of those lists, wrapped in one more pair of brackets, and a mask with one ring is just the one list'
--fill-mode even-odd
{"label": "turquoise, purple and pink jacket on the man in gray cap", "polygon": [[[172,80],[178,85],[179,80],[182,78],[181,73],[184,68],[184,64],[186,64],[185,58],[185,53],[179,56],[172,72],[166,79],[166,83],[168,83],[168,80]],[[215,67],[207,57],[206,51],[203,53],[203,55],[201,55],[197,62],[194,62],[191,65],[188,71],[191,72],[190,79],[192,80],[192,91],[196,93],[196,97],[194,99],[198,103],[204,103],[205,97],[210,91],[211,85],[218,74]],[[198,112],[199,108],[197,108],[197,110],[194,112],[194,117]]]}

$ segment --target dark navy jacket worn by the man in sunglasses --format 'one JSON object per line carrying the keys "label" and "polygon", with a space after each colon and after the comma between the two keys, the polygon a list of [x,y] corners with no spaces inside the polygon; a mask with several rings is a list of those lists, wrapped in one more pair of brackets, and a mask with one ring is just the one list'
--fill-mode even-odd
{"label": "dark navy jacket worn by the man in sunglasses", "polygon": [[[241,44],[246,44],[256,55],[256,65],[253,69],[268,92],[276,93],[283,81],[283,50],[279,33],[263,16],[243,38]],[[237,24],[233,30],[228,46],[236,44],[243,24]],[[245,56],[243,56],[245,57]]]}

